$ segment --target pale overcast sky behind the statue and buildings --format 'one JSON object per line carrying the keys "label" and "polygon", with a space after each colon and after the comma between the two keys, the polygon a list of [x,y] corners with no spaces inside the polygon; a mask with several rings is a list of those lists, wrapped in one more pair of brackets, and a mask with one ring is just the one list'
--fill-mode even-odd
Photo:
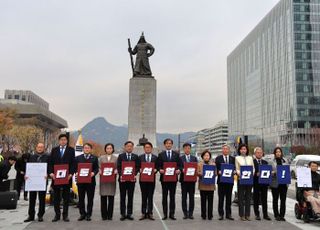
{"label": "pale overcast sky behind the statue and buildings", "polygon": [[278,0],[1,0],[0,97],[32,90],[79,129],[127,124],[127,38],[155,47],[157,131],[227,119],[227,55]]}

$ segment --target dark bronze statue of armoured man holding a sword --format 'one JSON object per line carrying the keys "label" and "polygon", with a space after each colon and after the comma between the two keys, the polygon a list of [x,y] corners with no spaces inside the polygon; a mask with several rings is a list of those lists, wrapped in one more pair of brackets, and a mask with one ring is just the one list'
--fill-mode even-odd
{"label": "dark bronze statue of armoured man holding a sword", "polygon": [[[153,46],[146,42],[143,33],[138,41],[138,44],[134,47],[134,49],[131,48],[130,40],[128,41],[128,51],[131,57],[133,77],[152,77],[152,72],[149,64],[149,57],[152,56],[152,54],[154,53]],[[132,55],[137,55],[136,62],[134,65]]]}

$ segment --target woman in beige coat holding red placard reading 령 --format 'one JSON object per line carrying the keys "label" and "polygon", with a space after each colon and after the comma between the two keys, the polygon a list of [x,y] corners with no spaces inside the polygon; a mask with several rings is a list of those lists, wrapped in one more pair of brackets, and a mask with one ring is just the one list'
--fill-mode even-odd
{"label": "woman in beige coat holding red placard reading \ub839", "polygon": [[[113,164],[113,172],[110,174],[117,174],[116,163],[117,157],[114,153],[114,145],[112,143],[107,143],[104,146],[104,151],[106,154],[100,156],[100,175],[102,172],[101,165],[104,163],[112,163]],[[101,204],[101,217],[102,220],[112,220],[113,216],[113,206],[114,206],[114,196],[116,194],[116,180],[111,182],[101,182],[100,181],[100,204]]]}

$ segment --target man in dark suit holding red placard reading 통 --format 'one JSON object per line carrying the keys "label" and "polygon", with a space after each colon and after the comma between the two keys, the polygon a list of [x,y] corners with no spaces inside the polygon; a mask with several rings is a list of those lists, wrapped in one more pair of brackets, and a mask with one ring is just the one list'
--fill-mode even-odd
{"label": "man in dark suit holding red placard reading \ud1b5", "polygon": [[[83,145],[83,154],[76,157],[76,169],[78,169],[79,163],[91,163],[92,172],[91,172],[91,183],[79,183],[78,193],[79,193],[79,212],[80,217],[78,221],[82,221],[86,219],[87,221],[91,221],[92,215],[92,207],[93,207],[93,198],[94,198],[94,190],[96,188],[96,178],[95,176],[99,172],[99,163],[98,158],[92,155],[92,145],[90,143],[86,143]],[[79,176],[79,172],[76,173],[77,178]],[[87,194],[88,204],[87,211],[85,209],[85,196]]]}

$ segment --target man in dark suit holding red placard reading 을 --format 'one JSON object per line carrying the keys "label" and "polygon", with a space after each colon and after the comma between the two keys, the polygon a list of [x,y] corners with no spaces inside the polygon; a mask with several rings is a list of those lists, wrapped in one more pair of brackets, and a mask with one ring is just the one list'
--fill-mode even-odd
{"label": "man in dark suit holding red placard reading \uc744", "polygon": [[[194,210],[194,193],[195,193],[195,187],[197,182],[197,164],[198,159],[195,156],[191,155],[191,144],[190,143],[184,143],[183,144],[183,151],[184,155],[180,157],[181,161],[181,168],[180,171],[182,173],[180,174],[180,183],[181,183],[181,204],[182,204],[182,211],[183,211],[183,219],[194,219],[193,217],[193,210]],[[191,163],[191,164],[189,164]],[[186,165],[193,167],[187,167]],[[191,180],[187,180],[188,178],[191,178]],[[194,180],[192,178],[194,177]],[[189,196],[189,209],[187,207],[187,197]]]}

